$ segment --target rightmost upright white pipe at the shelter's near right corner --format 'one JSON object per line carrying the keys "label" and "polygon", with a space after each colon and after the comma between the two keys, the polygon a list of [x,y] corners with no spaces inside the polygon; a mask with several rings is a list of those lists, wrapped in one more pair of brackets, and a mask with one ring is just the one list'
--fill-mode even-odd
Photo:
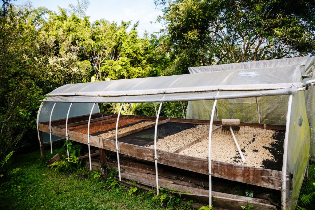
{"label": "rightmost upright white pipe at the shelter's near right corner", "polygon": [[288,162],[288,141],[289,141],[289,127],[290,127],[290,118],[291,118],[291,107],[292,107],[292,98],[293,95],[289,96],[288,101],[288,112],[287,112],[287,122],[285,127],[285,136],[284,136],[284,143],[283,143],[283,165],[282,165],[282,172],[281,172],[281,209],[286,209],[286,199],[287,199],[287,181],[289,180],[287,174],[287,162]]}

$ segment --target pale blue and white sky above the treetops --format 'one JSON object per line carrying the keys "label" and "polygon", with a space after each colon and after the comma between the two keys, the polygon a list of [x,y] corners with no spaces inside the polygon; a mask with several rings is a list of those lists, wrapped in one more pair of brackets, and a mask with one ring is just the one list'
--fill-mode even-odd
{"label": "pale blue and white sky above the treetops", "polygon": [[[23,4],[26,0],[17,0],[14,4]],[[76,0],[30,0],[34,7],[46,7],[58,11],[58,6],[68,8],[69,4],[77,5]],[[153,0],[90,0],[86,15],[90,21],[105,19],[118,24],[131,20],[131,24],[139,21],[138,35],[142,37],[144,31],[149,33],[159,31],[163,26],[157,22],[157,16],[162,14]],[[152,21],[152,23],[150,23]],[[130,29],[131,27],[129,27]]]}

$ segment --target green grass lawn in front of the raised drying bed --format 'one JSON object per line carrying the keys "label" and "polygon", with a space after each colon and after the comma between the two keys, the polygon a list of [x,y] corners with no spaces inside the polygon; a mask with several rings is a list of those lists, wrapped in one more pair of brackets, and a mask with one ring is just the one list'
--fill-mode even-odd
{"label": "green grass lawn in front of the raised drying bed", "polygon": [[0,209],[175,208],[158,207],[148,193],[129,195],[120,187],[111,188],[101,178],[92,178],[87,170],[55,172],[41,163],[39,151],[13,156],[10,168],[17,167],[20,173],[0,181]]}

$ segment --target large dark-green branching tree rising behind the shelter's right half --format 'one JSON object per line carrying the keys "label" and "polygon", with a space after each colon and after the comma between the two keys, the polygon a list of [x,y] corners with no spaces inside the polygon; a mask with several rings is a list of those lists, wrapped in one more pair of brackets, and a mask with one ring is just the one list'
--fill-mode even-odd
{"label": "large dark-green branching tree rising behind the shelter's right half", "polygon": [[314,1],[176,0],[164,6],[172,73],[188,66],[314,54]]}

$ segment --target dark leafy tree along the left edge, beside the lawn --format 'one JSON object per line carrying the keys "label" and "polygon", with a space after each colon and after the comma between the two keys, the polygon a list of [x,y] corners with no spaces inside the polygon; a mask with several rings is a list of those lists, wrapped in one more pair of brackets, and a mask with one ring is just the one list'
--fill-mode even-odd
{"label": "dark leafy tree along the left edge, beside the lawn", "polygon": [[0,157],[13,151],[23,134],[36,125],[42,91],[34,82],[37,71],[22,60],[23,54],[34,52],[46,13],[28,3],[14,7],[7,0],[0,9]]}

